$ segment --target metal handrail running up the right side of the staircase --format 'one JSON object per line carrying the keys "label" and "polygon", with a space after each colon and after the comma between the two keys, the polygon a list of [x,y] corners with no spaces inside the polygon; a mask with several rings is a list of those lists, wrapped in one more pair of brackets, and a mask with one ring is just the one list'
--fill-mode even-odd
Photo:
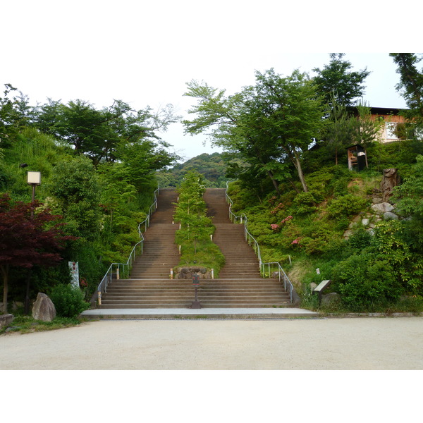
{"label": "metal handrail running up the right side of the staircase", "polygon": [[233,201],[231,199],[231,197],[229,197],[228,195],[228,186],[229,186],[229,182],[226,181],[226,190],[225,190],[225,197],[226,197],[226,202],[229,204],[229,219],[231,219],[231,221],[233,223],[244,223],[244,233],[245,233],[245,240],[247,241],[247,243],[250,245],[253,243],[254,245],[254,250],[255,253],[257,254],[257,257],[259,259],[259,267],[260,267],[260,274],[262,274],[262,276],[266,276],[266,266],[268,268],[268,275],[269,277],[271,276],[271,268],[276,268],[275,272],[278,272],[278,278],[279,281],[282,280],[283,278],[283,287],[285,288],[285,290],[287,290],[288,288],[288,292],[289,292],[289,298],[290,298],[290,302],[293,302],[293,284],[291,283],[291,281],[289,280],[288,276],[286,275],[285,271],[282,269],[282,266],[280,263],[278,262],[270,262],[270,263],[263,263],[262,262],[262,255],[260,253],[260,247],[259,244],[257,243],[257,240],[255,240],[255,238],[251,235],[251,233],[248,231],[248,219],[247,216],[245,215],[245,213],[241,214],[240,216],[237,216],[236,214],[234,214],[232,212],[232,207],[233,207]]}

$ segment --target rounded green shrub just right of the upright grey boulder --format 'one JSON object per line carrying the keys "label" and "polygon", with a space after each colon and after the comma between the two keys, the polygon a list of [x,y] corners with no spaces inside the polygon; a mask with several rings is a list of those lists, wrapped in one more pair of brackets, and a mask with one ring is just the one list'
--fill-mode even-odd
{"label": "rounded green shrub just right of the upright grey boulder", "polygon": [[82,290],[70,283],[55,286],[51,290],[50,299],[56,307],[58,317],[77,317],[78,314],[90,307],[84,301]]}

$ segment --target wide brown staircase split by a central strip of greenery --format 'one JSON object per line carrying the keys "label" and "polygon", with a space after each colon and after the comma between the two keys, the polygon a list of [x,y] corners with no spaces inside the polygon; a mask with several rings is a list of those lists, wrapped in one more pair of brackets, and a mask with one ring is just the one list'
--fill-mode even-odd
{"label": "wide brown staircase split by a central strip of greenery", "polygon": [[[133,265],[130,279],[109,283],[102,295],[103,309],[187,308],[194,300],[192,281],[171,279],[179,262],[173,224],[176,190],[161,190],[157,211],[145,232],[144,253]],[[231,223],[225,190],[207,189],[208,214],[213,217],[214,242],[226,257],[219,278],[201,279],[198,300],[202,308],[289,307],[288,293],[278,279],[261,278],[255,252],[245,242],[244,226]]]}

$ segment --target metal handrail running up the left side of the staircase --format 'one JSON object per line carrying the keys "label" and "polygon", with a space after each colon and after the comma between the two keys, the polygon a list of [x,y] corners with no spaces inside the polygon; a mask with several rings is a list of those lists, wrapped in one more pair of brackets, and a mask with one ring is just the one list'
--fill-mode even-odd
{"label": "metal handrail running up the left side of the staircase", "polygon": [[[143,242],[144,242],[144,235],[142,235],[142,227],[145,226],[145,231],[147,231],[147,228],[149,227],[151,215],[157,209],[157,195],[159,195],[159,193],[160,193],[160,188],[157,188],[157,190],[154,191],[154,194],[153,194],[154,202],[149,207],[147,217],[138,225],[138,235],[140,235],[140,241],[134,245],[132,251],[130,252],[127,262],[126,263],[112,263],[109,266],[109,269],[107,269],[106,274],[103,276],[102,281],[99,283],[99,286],[97,287],[97,300],[100,305],[102,303],[102,293],[107,292],[107,286],[114,278],[114,275],[116,275],[117,279],[121,278],[121,276],[123,276],[123,278],[128,277],[130,273],[130,269],[132,268],[132,264],[135,261],[135,258],[137,257],[137,250],[141,250],[140,253],[142,254]],[[94,295],[93,295],[93,298],[94,298]]]}

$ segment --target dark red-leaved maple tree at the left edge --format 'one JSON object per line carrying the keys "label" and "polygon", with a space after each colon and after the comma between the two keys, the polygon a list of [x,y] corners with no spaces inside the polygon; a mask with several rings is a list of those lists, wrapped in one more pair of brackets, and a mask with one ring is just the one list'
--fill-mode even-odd
{"label": "dark red-leaved maple tree at the left edge", "polygon": [[3,276],[4,314],[7,314],[9,269],[54,266],[61,261],[60,250],[67,240],[61,216],[39,209],[39,202],[13,202],[8,194],[0,196],[0,271]]}

